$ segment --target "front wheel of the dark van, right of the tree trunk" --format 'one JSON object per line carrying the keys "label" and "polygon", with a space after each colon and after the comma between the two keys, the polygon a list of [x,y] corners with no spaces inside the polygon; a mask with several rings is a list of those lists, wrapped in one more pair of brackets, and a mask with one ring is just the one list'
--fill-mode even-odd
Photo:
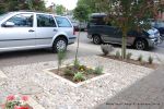
{"label": "front wheel of the dark van, right of the tree trunk", "polygon": [[148,43],[144,39],[137,39],[134,41],[134,48],[138,50],[145,50],[148,49]]}

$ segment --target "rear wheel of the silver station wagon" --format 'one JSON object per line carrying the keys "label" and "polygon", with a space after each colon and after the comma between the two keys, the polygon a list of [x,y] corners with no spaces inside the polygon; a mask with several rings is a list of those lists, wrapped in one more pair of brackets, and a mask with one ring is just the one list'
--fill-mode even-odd
{"label": "rear wheel of the silver station wagon", "polygon": [[65,37],[59,37],[54,41],[52,52],[58,52],[59,50],[67,50],[67,39]]}

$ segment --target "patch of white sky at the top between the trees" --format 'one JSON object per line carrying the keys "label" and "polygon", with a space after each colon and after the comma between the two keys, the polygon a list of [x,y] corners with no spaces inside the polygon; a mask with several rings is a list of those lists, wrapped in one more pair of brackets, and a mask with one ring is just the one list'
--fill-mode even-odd
{"label": "patch of white sky at the top between the trees", "polygon": [[62,4],[68,10],[72,10],[75,8],[78,0],[45,0],[46,7],[49,7],[52,2],[55,4]]}

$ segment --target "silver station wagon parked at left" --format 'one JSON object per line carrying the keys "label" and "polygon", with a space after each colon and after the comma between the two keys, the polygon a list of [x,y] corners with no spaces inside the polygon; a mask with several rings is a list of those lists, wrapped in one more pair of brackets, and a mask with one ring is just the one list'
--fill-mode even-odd
{"label": "silver station wagon parked at left", "polygon": [[9,12],[0,15],[0,51],[52,48],[66,50],[75,40],[69,19],[42,12]]}

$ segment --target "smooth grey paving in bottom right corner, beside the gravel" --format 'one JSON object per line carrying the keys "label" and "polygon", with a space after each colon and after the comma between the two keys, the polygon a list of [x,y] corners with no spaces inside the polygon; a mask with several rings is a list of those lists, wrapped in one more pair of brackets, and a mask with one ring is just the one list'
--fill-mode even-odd
{"label": "smooth grey paving in bottom right corner, beside the gravel", "polygon": [[164,65],[96,109],[164,109]]}

